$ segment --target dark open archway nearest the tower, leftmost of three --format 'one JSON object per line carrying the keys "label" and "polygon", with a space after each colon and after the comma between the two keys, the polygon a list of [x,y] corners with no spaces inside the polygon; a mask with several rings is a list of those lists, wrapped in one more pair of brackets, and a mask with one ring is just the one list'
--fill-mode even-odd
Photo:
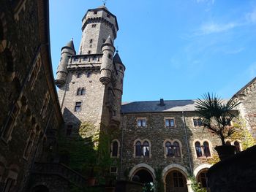
{"label": "dark open archway nearest the tower, leftmost of three", "polygon": [[151,172],[149,172],[148,169],[139,169],[136,171],[132,177],[132,180],[144,184],[143,192],[154,191],[154,180]]}

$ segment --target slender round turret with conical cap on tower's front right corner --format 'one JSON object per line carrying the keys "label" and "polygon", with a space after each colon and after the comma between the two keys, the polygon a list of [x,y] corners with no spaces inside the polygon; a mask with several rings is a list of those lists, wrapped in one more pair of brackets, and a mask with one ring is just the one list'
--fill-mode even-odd
{"label": "slender round turret with conical cap on tower's front right corner", "polygon": [[108,85],[110,82],[113,69],[113,54],[115,53],[115,50],[112,39],[108,36],[108,39],[102,45],[103,55],[99,81],[102,82],[103,85]]}

